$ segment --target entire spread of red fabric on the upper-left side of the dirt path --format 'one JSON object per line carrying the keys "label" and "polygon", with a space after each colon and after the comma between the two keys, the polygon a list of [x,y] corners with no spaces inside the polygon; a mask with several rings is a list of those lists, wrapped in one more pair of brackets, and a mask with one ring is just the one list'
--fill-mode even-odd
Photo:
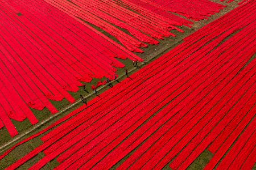
{"label": "entire spread of red fabric on the upper-left side of the dirt path", "polygon": [[[7,116],[16,121],[28,118],[34,125],[38,120],[28,107],[47,108],[56,113],[57,109],[49,100],[67,99],[73,103],[75,99],[68,91],[78,91],[78,86],[82,86],[80,81],[90,82],[92,78],[104,76],[113,79],[117,71],[114,67],[125,66],[113,57],[142,61],[80,19],[104,29],[129,50],[143,52],[139,49],[147,47],[143,42],[158,44],[155,39],[175,36],[170,32],[172,29],[184,32],[177,25],[191,27],[193,24],[169,11],[200,20],[224,7],[207,0],[179,3],[182,7],[176,2],[163,7],[160,1],[146,0],[3,2],[0,8],[0,14],[4,16],[0,23],[0,56],[3,56],[0,74],[3,74],[3,80],[0,85],[7,87],[3,96],[10,97],[3,102]],[[200,12],[197,10],[199,6]],[[126,29],[134,37],[112,24]],[[98,82],[97,87],[105,83]],[[16,135],[16,132],[10,133],[13,133],[12,137]]]}

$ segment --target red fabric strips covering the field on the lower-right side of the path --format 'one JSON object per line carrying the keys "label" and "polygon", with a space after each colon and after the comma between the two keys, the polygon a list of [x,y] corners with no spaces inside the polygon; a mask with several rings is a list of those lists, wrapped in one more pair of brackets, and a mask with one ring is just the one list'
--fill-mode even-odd
{"label": "red fabric strips covering the field on the lower-right side of the path", "polygon": [[207,169],[253,167],[254,12],[245,3],[188,36],[56,122],[60,126],[41,138],[44,143],[9,169],[40,152],[45,156],[30,169],[53,159],[60,163],[56,169],[109,169],[117,163],[117,169],[162,169],[170,162],[173,169],[186,169],[209,146],[216,151]]}

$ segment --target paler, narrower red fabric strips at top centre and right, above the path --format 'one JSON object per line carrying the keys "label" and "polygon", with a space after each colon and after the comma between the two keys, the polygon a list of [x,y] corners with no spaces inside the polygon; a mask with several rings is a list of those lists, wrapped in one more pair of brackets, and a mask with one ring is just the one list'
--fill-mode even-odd
{"label": "paler, narrower red fabric strips at top centre and right, above the path", "polygon": [[[114,36],[131,52],[143,53],[141,47],[148,44],[158,44],[155,39],[175,36],[172,29],[183,32],[176,25],[191,27],[192,22],[183,19],[171,12],[185,15],[189,19],[201,20],[219,12],[225,6],[207,0],[197,0],[191,3],[187,0],[172,1],[163,4],[160,1],[64,1],[44,0],[59,10],[66,12],[73,18],[80,18],[97,27],[100,27]],[[182,7],[180,7],[182,5]],[[209,7],[210,6],[210,7]],[[132,10],[130,10],[132,9]],[[134,10],[134,11],[133,11]],[[81,22],[85,24],[84,22]],[[126,29],[131,35],[121,31]]]}

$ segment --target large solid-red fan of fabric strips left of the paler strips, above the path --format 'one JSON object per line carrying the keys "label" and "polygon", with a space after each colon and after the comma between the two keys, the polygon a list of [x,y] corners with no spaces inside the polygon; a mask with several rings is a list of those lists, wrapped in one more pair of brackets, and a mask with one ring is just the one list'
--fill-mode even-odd
{"label": "large solid-red fan of fabric strips left of the paler strips, above the path", "polygon": [[114,67],[125,66],[114,57],[143,61],[44,1],[5,1],[0,15],[0,118],[11,137],[18,134],[11,119],[38,122],[29,107],[57,113],[49,100],[73,103],[68,91],[80,81],[113,78]]}

